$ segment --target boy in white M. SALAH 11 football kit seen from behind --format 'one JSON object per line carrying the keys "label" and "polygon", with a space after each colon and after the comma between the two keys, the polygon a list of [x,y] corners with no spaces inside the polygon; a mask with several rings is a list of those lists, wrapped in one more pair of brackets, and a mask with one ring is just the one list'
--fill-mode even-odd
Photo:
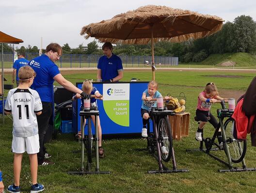
{"label": "boy in white M. SALAH 11 football kit seen from behind", "polygon": [[38,193],[45,189],[37,183],[37,153],[39,152],[39,137],[36,115],[42,113],[42,103],[38,93],[30,89],[35,72],[30,66],[21,67],[18,72],[19,86],[11,89],[6,98],[4,112],[13,114],[13,141],[14,152],[14,184],[8,186],[10,193],[20,193],[20,172],[23,153],[27,152],[30,158],[32,186],[31,192]]}

